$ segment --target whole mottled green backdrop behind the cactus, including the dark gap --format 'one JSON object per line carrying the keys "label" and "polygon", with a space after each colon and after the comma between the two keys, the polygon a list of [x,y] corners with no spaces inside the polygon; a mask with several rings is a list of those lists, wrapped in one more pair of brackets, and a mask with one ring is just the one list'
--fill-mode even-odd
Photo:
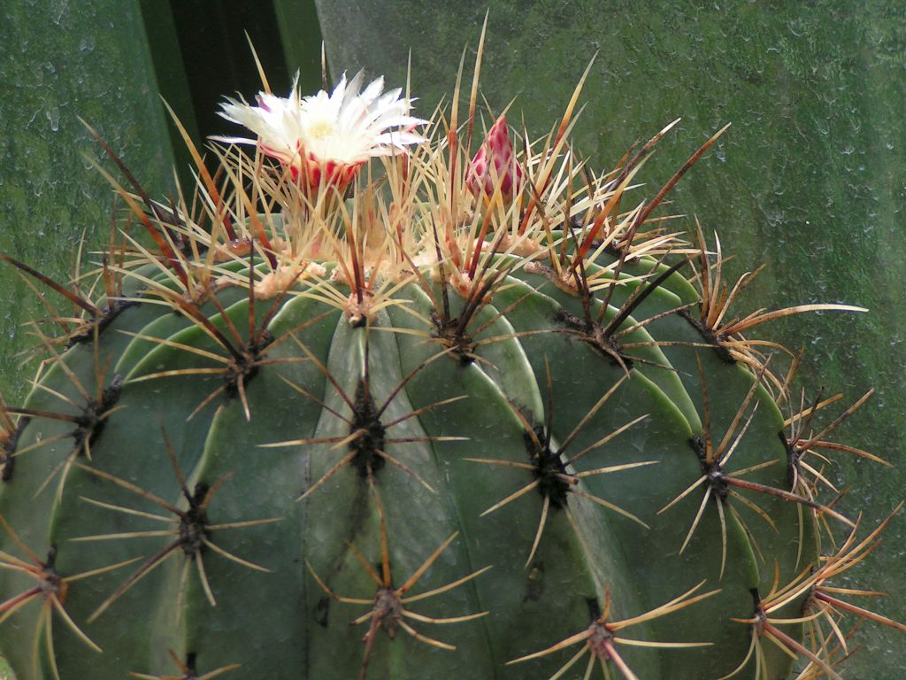
{"label": "whole mottled green backdrop behind the cactus, including the dark gap", "polygon": [[[495,112],[516,96],[533,136],[547,131],[597,54],[574,141],[595,170],[668,121],[641,180],[660,187],[725,122],[733,126],[682,180],[672,208],[717,229],[738,275],[767,263],[743,309],[847,302],[867,315],[824,314],[761,331],[807,349],[811,390],[877,393],[840,437],[898,464],[844,461],[844,505],[873,526],[906,497],[906,3],[812,0],[722,3],[652,0],[167,2],[7,0],[0,13],[0,251],[66,280],[72,251],[110,228],[111,189],[82,154],[100,158],[76,116],[90,121],[152,195],[172,190],[187,160],[162,94],[198,141],[229,130],[214,114],[224,94],[258,89],[247,32],[275,91],[302,70],[319,86],[322,35],[333,75],[364,68],[405,83],[412,63],[418,112],[467,71],[490,9],[482,91]],[[176,150],[176,151],[174,151]],[[645,189],[642,189],[644,191]],[[639,193],[640,197],[642,192]],[[0,268],[0,390],[27,392],[33,365],[23,325],[43,316]],[[836,412],[834,412],[836,413]],[[891,597],[872,604],[906,620],[906,517],[896,520],[853,584]],[[906,676],[901,634],[870,626],[847,677]]]}

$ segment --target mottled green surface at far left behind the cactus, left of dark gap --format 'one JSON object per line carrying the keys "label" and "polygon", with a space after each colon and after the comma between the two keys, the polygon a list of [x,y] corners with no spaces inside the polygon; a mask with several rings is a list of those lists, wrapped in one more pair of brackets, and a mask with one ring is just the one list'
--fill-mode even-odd
{"label": "mottled green surface at far left behind the cactus, left of dark gap", "polygon": [[[138,3],[5,3],[0,24],[0,252],[54,278],[72,271],[85,239],[98,248],[111,226],[109,185],[90,167],[92,121],[156,195],[169,185],[173,155]],[[13,269],[0,270],[0,389],[21,400],[34,365],[17,329],[44,314]]]}

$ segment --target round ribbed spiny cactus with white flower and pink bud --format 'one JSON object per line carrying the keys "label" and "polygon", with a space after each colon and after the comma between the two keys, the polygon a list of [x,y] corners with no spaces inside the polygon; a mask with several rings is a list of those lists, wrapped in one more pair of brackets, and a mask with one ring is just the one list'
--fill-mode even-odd
{"label": "round ribbed spiny cactus with white flower and pink bud", "polygon": [[868,395],[751,335],[859,308],[731,311],[752,275],[655,212],[718,135],[636,199],[667,129],[598,173],[581,83],[529,141],[477,83],[428,124],[265,82],[166,201],[97,135],[109,248],[66,284],[3,256],[53,293],[0,420],[20,680],[812,680],[843,615],[901,627],[844,585],[886,524],[834,507],[834,456],[886,464],[834,439]]}

